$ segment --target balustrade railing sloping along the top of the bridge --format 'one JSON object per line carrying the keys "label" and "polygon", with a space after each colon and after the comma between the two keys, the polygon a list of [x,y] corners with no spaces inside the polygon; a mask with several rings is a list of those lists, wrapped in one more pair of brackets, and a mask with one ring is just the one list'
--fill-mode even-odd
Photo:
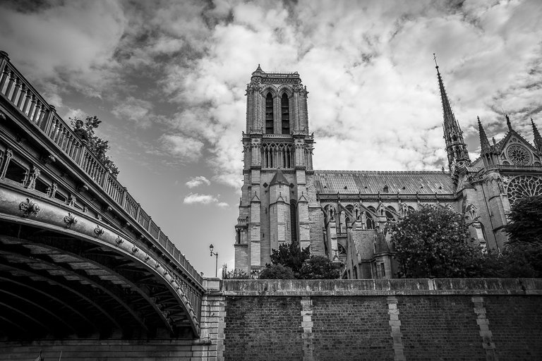
{"label": "balustrade railing sloping along the top of the bridge", "polygon": [[[0,96],[15,106],[24,118],[32,123],[37,131],[40,131],[58,147],[59,151],[66,154],[77,166],[84,171],[100,189],[104,191],[116,204],[139,224],[150,239],[162,246],[179,265],[190,274],[200,285],[203,284],[202,276],[186,260],[175,245],[160,230],[159,226],[152,221],[151,217],[141,209],[140,204],[130,195],[119,181],[109,173],[102,162],[90,152],[73,133],[68,124],[56,114],[54,106],[48,104],[34,87],[25,79],[9,61],[8,54],[0,51]],[[191,295],[191,302],[197,305],[197,295]]]}

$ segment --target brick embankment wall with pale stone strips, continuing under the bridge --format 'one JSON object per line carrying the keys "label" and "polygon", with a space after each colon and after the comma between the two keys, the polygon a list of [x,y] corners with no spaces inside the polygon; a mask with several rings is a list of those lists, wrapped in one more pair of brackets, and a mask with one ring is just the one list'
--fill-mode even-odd
{"label": "brick embankment wall with pale stone strips, continuing under the bridge", "polygon": [[198,340],[0,341],[0,360],[542,360],[542,279],[205,284]]}

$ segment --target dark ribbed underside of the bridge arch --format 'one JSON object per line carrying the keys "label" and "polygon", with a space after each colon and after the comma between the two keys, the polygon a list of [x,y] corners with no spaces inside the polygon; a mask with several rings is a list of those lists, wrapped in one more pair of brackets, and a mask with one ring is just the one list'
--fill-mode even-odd
{"label": "dark ribbed underside of the bridge arch", "polygon": [[194,337],[152,269],[107,245],[0,219],[0,340]]}

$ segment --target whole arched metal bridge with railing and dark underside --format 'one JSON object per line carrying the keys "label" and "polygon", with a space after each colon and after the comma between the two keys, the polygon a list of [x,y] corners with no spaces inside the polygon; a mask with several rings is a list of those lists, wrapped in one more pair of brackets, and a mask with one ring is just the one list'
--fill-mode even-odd
{"label": "whole arched metal bridge with railing and dark underside", "polygon": [[0,52],[0,338],[197,338],[204,288]]}

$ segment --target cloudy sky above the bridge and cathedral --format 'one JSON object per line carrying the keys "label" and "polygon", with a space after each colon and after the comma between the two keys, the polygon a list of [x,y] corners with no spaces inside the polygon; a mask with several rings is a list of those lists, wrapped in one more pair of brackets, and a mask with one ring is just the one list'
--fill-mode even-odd
{"label": "cloudy sky above the bridge and cathedral", "polygon": [[0,49],[68,121],[98,116],[119,181],[195,269],[234,267],[246,85],[298,71],[315,169],[447,168],[437,54],[471,159],[542,130],[542,1],[0,1]]}

